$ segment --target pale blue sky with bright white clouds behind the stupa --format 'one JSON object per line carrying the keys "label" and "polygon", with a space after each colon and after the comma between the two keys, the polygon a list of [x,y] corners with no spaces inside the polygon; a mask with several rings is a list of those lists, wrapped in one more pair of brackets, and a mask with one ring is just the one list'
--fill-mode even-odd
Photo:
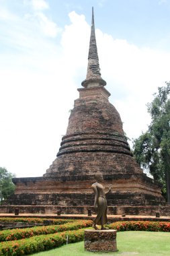
{"label": "pale blue sky with bright white clouds behind the stupa", "polygon": [[131,140],[170,81],[170,0],[0,0],[0,166],[16,177],[56,158],[87,72],[92,6],[101,76]]}

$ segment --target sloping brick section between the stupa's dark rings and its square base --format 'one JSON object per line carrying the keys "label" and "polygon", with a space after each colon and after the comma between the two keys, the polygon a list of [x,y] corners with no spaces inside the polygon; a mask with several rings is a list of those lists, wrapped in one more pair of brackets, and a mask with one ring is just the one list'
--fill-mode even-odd
{"label": "sloping brick section between the stupa's dark rings and its square base", "polygon": [[[85,174],[94,174],[97,170],[103,169],[103,174],[119,174],[134,172],[142,173],[134,158],[128,154],[118,154],[117,152],[69,152],[69,154],[61,154],[54,160],[48,170],[46,176],[75,176]],[[70,179],[68,177],[68,179]],[[76,177],[75,177],[76,179]]]}

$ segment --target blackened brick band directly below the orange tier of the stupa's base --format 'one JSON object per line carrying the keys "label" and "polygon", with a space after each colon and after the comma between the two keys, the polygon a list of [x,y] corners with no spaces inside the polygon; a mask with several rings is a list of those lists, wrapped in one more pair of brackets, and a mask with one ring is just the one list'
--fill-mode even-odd
{"label": "blackened brick band directly below the orange tier of the stupa's base", "polygon": [[[165,205],[161,197],[150,196],[141,193],[110,193],[107,195],[108,206],[114,205]],[[93,195],[87,193],[22,193],[15,194],[8,200],[9,204],[15,205],[59,205],[78,206],[93,205]]]}

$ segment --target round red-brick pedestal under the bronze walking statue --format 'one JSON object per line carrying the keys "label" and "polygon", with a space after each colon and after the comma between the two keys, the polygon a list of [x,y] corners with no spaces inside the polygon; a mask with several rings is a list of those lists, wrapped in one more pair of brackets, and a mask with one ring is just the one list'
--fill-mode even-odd
{"label": "round red-brick pedestal under the bronze walking statue", "polygon": [[116,230],[85,230],[85,250],[87,251],[118,251]]}

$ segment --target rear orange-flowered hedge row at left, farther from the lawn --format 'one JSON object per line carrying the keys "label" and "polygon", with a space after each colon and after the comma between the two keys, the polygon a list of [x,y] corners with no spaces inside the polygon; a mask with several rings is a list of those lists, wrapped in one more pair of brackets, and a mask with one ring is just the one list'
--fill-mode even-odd
{"label": "rear orange-flowered hedge row at left, farther from the lawn", "polygon": [[65,230],[78,230],[79,228],[92,226],[92,224],[93,222],[91,220],[77,220],[75,222],[62,225],[35,226],[33,228],[16,228],[13,230],[3,230],[0,232],[0,241],[16,241],[40,234],[53,234]]}

